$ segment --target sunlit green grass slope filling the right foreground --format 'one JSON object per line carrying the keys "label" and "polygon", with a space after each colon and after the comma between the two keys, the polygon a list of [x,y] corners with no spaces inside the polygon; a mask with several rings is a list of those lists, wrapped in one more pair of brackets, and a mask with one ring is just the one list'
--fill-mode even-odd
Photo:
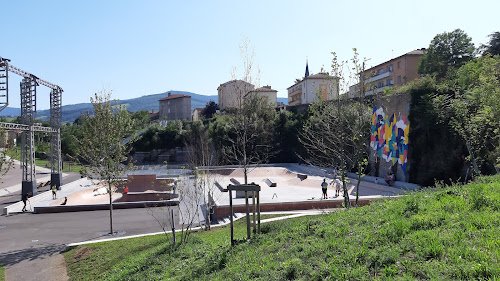
{"label": "sunlit green grass slope filling the right foreground", "polygon": [[71,280],[500,280],[500,176],[328,215],[81,246]]}

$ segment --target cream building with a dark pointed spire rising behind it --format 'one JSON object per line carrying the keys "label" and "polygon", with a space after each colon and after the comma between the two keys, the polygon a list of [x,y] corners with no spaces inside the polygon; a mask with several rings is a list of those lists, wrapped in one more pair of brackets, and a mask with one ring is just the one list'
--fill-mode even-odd
{"label": "cream building with a dark pointed spire rising behind it", "polygon": [[288,105],[295,106],[322,100],[333,100],[339,95],[338,78],[328,73],[309,75],[306,66],[306,76],[288,88]]}

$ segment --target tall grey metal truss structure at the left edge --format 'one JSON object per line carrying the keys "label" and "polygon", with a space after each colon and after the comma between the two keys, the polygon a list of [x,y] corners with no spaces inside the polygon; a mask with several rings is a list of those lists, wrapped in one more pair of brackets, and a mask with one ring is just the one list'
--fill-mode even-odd
{"label": "tall grey metal truss structure at the left edge", "polygon": [[[34,132],[48,132],[52,134],[50,148],[51,184],[60,189],[62,183],[61,172],[61,120],[62,120],[62,88],[42,80],[10,64],[9,59],[0,57],[0,111],[9,105],[9,72],[23,77],[21,87],[21,124],[0,123],[0,128],[21,130],[21,169],[22,195],[31,192],[37,193],[35,178],[35,143]],[[50,128],[35,124],[36,117],[36,87],[39,85],[51,89],[50,92]]]}

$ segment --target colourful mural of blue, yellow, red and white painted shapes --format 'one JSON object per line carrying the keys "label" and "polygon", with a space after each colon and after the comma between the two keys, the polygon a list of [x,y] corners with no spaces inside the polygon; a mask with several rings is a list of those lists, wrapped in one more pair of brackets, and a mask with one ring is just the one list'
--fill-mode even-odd
{"label": "colourful mural of blue, yellow, red and white painted shapes", "polygon": [[378,152],[380,159],[392,160],[392,164],[397,161],[405,175],[409,131],[410,125],[404,115],[397,120],[396,114],[388,116],[382,107],[373,107],[370,146]]}

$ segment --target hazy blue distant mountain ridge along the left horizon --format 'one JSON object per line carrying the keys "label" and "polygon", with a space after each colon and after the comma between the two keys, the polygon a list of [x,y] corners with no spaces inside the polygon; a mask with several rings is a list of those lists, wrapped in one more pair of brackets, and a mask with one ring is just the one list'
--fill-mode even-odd
{"label": "hazy blue distant mountain ridge along the left horizon", "polygon": [[[218,100],[217,95],[212,96],[204,96],[198,95],[191,92],[185,91],[168,91],[161,94],[155,95],[147,95],[139,98],[133,98],[128,100],[119,100],[118,104],[123,104],[127,107],[127,110],[131,112],[139,111],[139,110],[154,110],[158,111],[159,103],[158,100],[167,97],[168,93],[172,93],[172,95],[189,95],[191,96],[191,110],[197,107],[205,107],[205,105],[213,100]],[[278,98],[278,102],[283,102],[284,104],[288,104],[287,98]],[[81,114],[92,111],[91,103],[78,103],[78,104],[70,104],[62,106],[62,121],[63,122],[73,122],[78,116]],[[21,114],[21,109],[7,107],[4,110],[0,111],[0,116],[19,116]],[[50,110],[38,110],[36,113],[36,118],[42,121],[49,120],[50,118]]]}

